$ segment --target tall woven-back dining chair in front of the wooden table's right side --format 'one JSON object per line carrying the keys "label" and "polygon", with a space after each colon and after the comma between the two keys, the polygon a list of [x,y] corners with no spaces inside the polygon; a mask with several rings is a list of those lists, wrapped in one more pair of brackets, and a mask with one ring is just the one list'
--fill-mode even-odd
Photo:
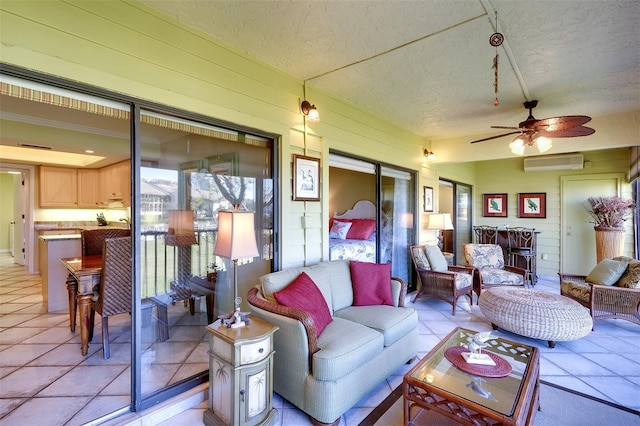
{"label": "tall woven-back dining chair in front of the wooden table's right side", "polygon": [[102,253],[100,286],[91,302],[89,341],[93,338],[95,313],[102,316],[104,358],[109,359],[109,317],[131,312],[131,238],[107,238]]}

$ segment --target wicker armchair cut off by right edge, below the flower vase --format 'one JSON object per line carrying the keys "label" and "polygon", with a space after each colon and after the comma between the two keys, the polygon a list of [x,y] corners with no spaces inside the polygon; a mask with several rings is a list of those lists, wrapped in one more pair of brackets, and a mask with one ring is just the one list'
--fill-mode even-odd
{"label": "wicker armchair cut off by right edge, below the flower vase", "polygon": [[626,268],[623,268],[622,276],[612,285],[589,282],[587,277],[593,276],[591,274],[586,276],[561,273],[560,294],[587,307],[591,312],[594,328],[596,320],[606,318],[624,319],[640,324],[640,260],[620,256],[605,259],[603,262],[608,260],[627,264]]}

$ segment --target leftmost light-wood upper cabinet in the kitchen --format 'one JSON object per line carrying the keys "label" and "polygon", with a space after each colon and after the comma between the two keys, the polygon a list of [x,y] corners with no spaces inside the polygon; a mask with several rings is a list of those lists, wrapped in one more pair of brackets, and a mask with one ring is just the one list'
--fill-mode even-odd
{"label": "leftmost light-wood upper cabinet in the kitchen", "polygon": [[40,207],[78,207],[76,169],[40,166]]}

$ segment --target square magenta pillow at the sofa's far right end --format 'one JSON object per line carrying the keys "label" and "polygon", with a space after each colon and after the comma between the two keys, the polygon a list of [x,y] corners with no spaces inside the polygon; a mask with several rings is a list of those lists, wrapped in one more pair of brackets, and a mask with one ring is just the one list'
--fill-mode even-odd
{"label": "square magenta pillow at the sofa's far right end", "polygon": [[349,261],[353,306],[393,305],[391,264]]}

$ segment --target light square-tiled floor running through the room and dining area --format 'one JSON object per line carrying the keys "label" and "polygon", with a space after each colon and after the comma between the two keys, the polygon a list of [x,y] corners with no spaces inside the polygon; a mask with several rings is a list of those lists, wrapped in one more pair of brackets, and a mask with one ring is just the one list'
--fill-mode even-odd
{"label": "light square-tiled floor running through the room and dining area", "polygon": [[[102,346],[97,343],[90,346],[91,356],[80,356],[78,333],[68,331],[68,317],[47,314],[42,308],[40,277],[26,275],[24,268],[14,266],[9,260],[8,255],[0,254],[0,424],[82,424],[99,417],[100,413],[127,405],[129,359],[119,353],[118,343],[113,345],[111,360],[102,358]],[[557,294],[558,279],[540,277],[535,289]],[[437,299],[421,299],[408,305],[415,307],[419,314],[419,357],[457,326],[491,330],[478,306],[469,306],[466,299],[458,302],[455,316],[451,316],[451,305]],[[182,306],[173,308],[179,309],[170,312],[172,337],[174,327],[202,328],[204,325],[198,315],[185,315]],[[127,321],[124,317],[121,322],[125,330],[121,331],[119,340],[126,349],[123,353],[128,352]],[[118,322],[110,322],[110,330],[112,324],[118,330]],[[192,335],[189,330],[183,329],[180,335]],[[554,349],[544,341],[503,330],[494,334],[538,347],[542,380],[640,410],[640,326],[619,320],[598,321],[595,331],[588,336],[558,342]],[[97,334],[96,339],[99,336]],[[178,357],[181,362],[174,360],[159,371],[144,375],[155,381],[147,382],[149,389],[185,377],[187,371],[193,372],[194,368],[200,371],[207,368],[205,336],[196,332],[195,337],[190,348],[182,348],[185,353]],[[149,348],[153,349],[154,345]],[[171,354],[172,349],[166,348],[167,351],[162,352]],[[161,359],[164,355],[157,356]],[[402,375],[411,367],[403,366],[387,378],[349,410],[340,424],[357,425],[401,383]],[[76,380],[86,372],[92,378],[90,385]],[[311,424],[304,413],[278,395],[274,395],[274,406],[279,412],[277,424]],[[205,402],[160,424],[203,424],[202,414],[206,408]]]}

